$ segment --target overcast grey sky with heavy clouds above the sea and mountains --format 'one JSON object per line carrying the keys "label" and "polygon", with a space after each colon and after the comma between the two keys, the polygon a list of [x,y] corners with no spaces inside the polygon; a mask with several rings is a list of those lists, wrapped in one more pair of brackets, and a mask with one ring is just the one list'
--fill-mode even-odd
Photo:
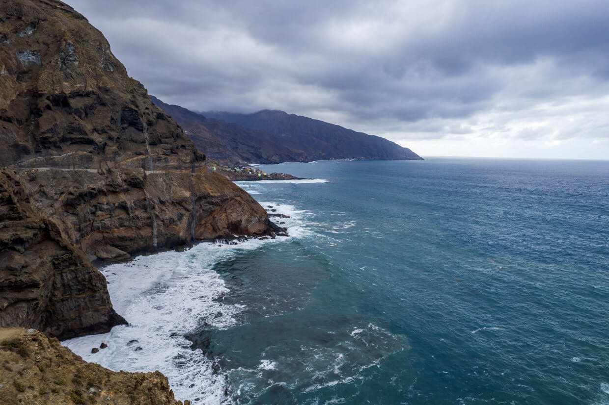
{"label": "overcast grey sky with heavy clouds above the sea and mountains", "polygon": [[70,4],[189,109],[282,109],[423,156],[609,158],[607,0]]}

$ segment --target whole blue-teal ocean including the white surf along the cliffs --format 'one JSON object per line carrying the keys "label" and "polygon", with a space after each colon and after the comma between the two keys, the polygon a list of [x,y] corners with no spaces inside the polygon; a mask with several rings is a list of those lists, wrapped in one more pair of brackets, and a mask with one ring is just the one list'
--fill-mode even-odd
{"label": "whole blue-teal ocean including the white surf along the cliffs", "polygon": [[609,404],[609,161],[260,168],[290,237],[102,268],[131,325],[63,344],[194,404]]}

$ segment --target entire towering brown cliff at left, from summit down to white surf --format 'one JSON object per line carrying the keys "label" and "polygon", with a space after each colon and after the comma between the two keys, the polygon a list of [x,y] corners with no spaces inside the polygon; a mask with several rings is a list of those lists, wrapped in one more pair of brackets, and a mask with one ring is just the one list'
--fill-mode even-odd
{"label": "entire towering brown cliff at left, from summit down to white surf", "polygon": [[279,230],[68,5],[0,0],[0,45],[0,325],[107,331],[91,259]]}

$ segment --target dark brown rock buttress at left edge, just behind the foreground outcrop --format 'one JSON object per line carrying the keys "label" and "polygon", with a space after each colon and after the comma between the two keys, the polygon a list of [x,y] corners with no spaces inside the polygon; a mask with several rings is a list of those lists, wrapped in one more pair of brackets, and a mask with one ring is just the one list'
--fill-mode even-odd
{"label": "dark brown rock buttress at left edge, just behind the foreground outcrop", "polygon": [[21,180],[0,170],[0,327],[33,327],[60,338],[125,323],[104,276],[29,204]]}

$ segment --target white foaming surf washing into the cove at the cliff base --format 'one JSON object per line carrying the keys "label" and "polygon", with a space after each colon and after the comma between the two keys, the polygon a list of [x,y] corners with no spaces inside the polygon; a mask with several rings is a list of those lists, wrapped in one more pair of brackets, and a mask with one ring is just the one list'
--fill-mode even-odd
{"label": "white foaming surf washing into the cove at the cliff base", "polygon": [[[272,220],[284,223],[289,236],[249,238],[236,244],[202,241],[183,252],[167,250],[107,263],[99,271],[107,279],[115,310],[129,324],[61,344],[83,360],[113,371],[159,370],[169,379],[178,400],[190,400],[193,405],[226,403],[230,400],[227,375],[218,369],[217,359],[209,358],[200,348],[191,348],[186,336],[205,328],[234,327],[239,323],[239,313],[245,310],[242,305],[222,302],[230,290],[213,270],[217,263],[267,244],[289,243],[306,232],[305,212],[289,204],[260,204],[265,209],[272,206],[273,214],[283,215]],[[108,347],[91,353],[102,342]],[[272,364],[261,367],[270,370]]]}

